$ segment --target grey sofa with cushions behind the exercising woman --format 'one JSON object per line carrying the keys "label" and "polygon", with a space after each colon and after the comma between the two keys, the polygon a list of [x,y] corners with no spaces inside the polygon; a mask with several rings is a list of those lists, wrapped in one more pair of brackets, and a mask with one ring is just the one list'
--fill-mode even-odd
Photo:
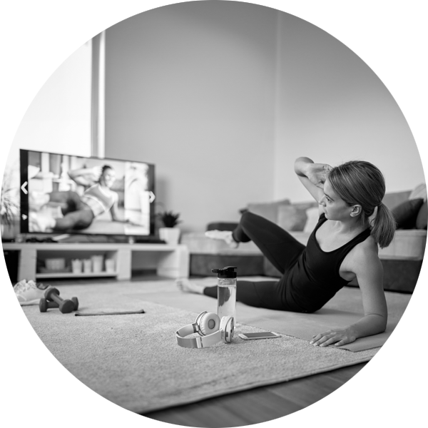
{"label": "grey sofa with cushions behind the exercising woman", "polygon": [[[426,187],[428,189],[428,185]],[[402,224],[396,230],[392,244],[379,249],[384,267],[384,289],[427,295],[428,195],[418,195],[414,190],[387,193],[383,202],[393,213],[402,215]],[[409,213],[410,205],[413,205],[412,213]],[[245,209],[269,218],[305,245],[318,218],[315,202],[280,200],[248,204]],[[207,229],[233,230],[235,225],[215,222],[207,225]],[[280,277],[280,272],[253,243],[241,243],[237,249],[230,249],[223,241],[206,238],[204,233],[184,233],[181,243],[188,245],[190,250],[191,276],[210,276],[213,267],[234,265],[238,267],[238,276]],[[351,282],[350,286],[357,286],[357,282]]]}

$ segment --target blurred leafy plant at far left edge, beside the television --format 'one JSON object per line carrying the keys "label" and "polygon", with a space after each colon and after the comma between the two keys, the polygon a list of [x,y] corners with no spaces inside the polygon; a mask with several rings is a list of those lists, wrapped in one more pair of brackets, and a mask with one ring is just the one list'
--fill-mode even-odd
{"label": "blurred leafy plant at far left edge, beside the television", "polygon": [[12,171],[0,165],[0,237],[14,238],[14,220],[19,205],[14,202]]}

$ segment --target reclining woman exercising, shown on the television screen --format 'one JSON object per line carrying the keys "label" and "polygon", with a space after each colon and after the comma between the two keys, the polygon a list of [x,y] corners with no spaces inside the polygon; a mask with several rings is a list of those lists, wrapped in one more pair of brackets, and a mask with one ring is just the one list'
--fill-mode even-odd
{"label": "reclining woman exercising, shown on the television screen", "polygon": [[[83,195],[80,196],[73,190],[60,190],[43,195],[30,193],[30,209],[36,209],[36,212],[30,213],[32,231],[86,229],[98,215],[106,212],[110,212],[111,220],[127,223],[127,220],[121,220],[117,215],[118,194],[111,190],[116,173],[110,165],[72,170],[68,175],[78,185],[87,187]],[[96,175],[98,179],[95,181]],[[40,208],[48,203],[60,204],[62,217],[54,218],[41,212]]]}

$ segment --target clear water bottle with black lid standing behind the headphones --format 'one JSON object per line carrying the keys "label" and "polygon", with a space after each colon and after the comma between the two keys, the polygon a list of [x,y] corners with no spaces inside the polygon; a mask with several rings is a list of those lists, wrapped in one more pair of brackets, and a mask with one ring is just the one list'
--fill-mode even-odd
{"label": "clear water bottle with black lid standing behind the headphones", "polygon": [[223,269],[211,269],[217,274],[217,315],[234,317],[236,323],[236,266],[226,266]]}

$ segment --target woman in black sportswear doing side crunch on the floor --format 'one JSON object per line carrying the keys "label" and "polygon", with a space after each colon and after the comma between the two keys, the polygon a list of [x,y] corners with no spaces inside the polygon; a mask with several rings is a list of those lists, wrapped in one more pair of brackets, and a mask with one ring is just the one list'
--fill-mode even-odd
{"label": "woman in black sportswear doing side crunch on the floor", "polygon": [[[307,245],[285,230],[250,212],[233,232],[210,230],[209,238],[231,247],[252,240],[282,273],[280,280],[239,281],[237,300],[250,306],[293,312],[315,312],[355,278],[362,291],[364,317],[352,325],[313,337],[315,346],[337,346],[358,337],[384,332],[387,304],[378,246],[394,238],[395,221],[382,203],[385,183],[372,163],[350,161],[332,168],[297,158],[295,173],[319,203],[320,218]],[[177,280],[180,290],[217,297],[217,287]]]}

